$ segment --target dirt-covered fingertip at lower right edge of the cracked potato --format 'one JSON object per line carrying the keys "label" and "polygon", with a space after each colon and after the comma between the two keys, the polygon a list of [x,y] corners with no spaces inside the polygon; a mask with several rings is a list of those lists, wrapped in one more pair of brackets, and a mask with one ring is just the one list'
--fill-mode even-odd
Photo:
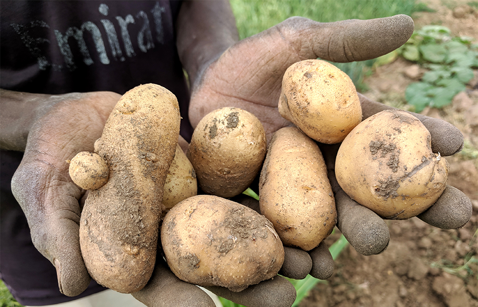
{"label": "dirt-covered fingertip at lower right edge of the cracked potato", "polygon": [[436,203],[418,218],[441,229],[458,229],[470,221],[472,213],[473,205],[468,196],[447,185]]}

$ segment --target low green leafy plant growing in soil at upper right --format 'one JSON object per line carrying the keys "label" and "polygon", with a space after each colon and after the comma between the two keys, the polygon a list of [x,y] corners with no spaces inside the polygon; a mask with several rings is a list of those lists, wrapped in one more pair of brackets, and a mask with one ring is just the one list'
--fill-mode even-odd
{"label": "low green leafy plant growing in soil at upper right", "polygon": [[441,108],[466,89],[478,67],[478,46],[470,37],[452,37],[444,26],[428,25],[415,31],[399,50],[405,59],[428,71],[405,90],[405,99],[421,112],[425,107]]}

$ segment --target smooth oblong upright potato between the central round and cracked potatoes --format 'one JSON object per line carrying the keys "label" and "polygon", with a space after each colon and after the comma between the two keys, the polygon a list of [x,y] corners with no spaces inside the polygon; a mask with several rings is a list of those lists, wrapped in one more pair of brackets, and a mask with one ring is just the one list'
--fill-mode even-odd
{"label": "smooth oblong upright potato between the central round and cracked potatoes", "polygon": [[287,246],[311,250],[334,229],[337,211],[324,158],[295,127],[272,136],[260,173],[259,206]]}

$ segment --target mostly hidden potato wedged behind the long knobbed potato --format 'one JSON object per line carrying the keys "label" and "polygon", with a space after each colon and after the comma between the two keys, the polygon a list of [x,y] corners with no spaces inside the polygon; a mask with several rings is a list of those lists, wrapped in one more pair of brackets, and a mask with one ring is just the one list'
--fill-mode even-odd
{"label": "mostly hidden potato wedged behind the long knobbed potato", "polygon": [[173,162],[169,167],[162,203],[164,214],[177,203],[198,194],[198,181],[193,165],[179,144],[176,147]]}

